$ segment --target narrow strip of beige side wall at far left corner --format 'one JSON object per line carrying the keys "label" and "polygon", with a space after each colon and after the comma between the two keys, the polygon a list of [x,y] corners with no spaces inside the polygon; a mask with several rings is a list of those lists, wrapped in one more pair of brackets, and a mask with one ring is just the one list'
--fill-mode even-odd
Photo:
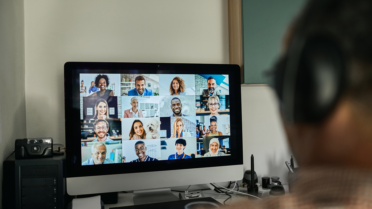
{"label": "narrow strip of beige side wall at far left corner", "polygon": [[26,137],[23,17],[23,0],[0,0],[0,188],[3,161],[12,153],[15,139]]}

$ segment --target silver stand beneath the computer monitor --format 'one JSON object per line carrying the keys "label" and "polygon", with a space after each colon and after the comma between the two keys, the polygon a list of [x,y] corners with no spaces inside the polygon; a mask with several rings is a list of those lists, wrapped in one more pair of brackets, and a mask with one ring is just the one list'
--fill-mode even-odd
{"label": "silver stand beneath the computer monitor", "polygon": [[134,205],[180,200],[169,187],[158,189],[142,189],[133,191]]}

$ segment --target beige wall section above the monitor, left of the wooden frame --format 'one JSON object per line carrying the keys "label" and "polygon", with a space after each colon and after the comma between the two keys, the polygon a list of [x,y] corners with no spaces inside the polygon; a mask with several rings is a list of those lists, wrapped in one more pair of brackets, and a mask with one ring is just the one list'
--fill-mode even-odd
{"label": "beige wall section above the monitor, left of the wooden frame", "polygon": [[228,43],[227,0],[25,1],[27,136],[65,142],[65,62],[228,64]]}

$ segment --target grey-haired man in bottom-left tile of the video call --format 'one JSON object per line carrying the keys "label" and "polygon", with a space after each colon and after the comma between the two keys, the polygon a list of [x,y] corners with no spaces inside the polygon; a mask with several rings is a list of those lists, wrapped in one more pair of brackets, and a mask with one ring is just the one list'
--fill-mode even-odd
{"label": "grey-haired man in bottom-left tile of the video call", "polygon": [[110,158],[106,158],[107,147],[105,142],[96,142],[92,145],[91,158],[81,163],[81,165],[97,165],[97,164],[108,164],[115,163]]}

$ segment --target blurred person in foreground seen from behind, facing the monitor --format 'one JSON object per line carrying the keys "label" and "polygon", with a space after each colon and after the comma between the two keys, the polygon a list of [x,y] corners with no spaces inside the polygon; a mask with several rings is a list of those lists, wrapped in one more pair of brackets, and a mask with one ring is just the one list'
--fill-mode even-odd
{"label": "blurred person in foreground seen from behind, facing the monitor", "polygon": [[[290,52],[296,51],[292,48],[295,45],[292,44],[301,39],[298,33],[325,36],[327,41],[324,41],[324,44],[313,44],[311,41],[309,45],[304,44],[312,49],[307,50],[307,53],[313,55],[306,60],[320,58],[318,65],[299,65],[301,67],[297,67],[297,73],[298,81],[307,80],[310,79],[307,76],[310,72],[308,68],[327,66],[319,71],[323,76],[318,78],[327,77],[323,84],[328,83],[331,86],[325,85],[325,88],[319,91],[308,85],[298,85],[291,89],[285,85],[290,84],[289,82],[293,84],[293,81],[281,79],[283,91],[278,93],[281,104],[290,104],[286,99],[293,99],[291,93],[295,94],[295,102],[298,102],[298,105],[291,109],[281,109],[288,142],[300,169],[295,170],[296,181],[291,185],[291,194],[263,201],[239,202],[230,208],[372,208],[371,14],[370,0],[314,0],[307,4],[286,36],[285,48],[289,51],[287,58],[291,59],[292,55],[298,54]],[[303,62],[300,61],[299,64],[301,63]],[[334,66],[341,69],[340,77],[344,76],[343,79],[328,76],[334,74],[329,71]],[[289,69],[291,68],[285,68]],[[341,84],[340,91],[338,85],[334,85],[338,83]],[[329,95],[336,97],[327,111],[321,111],[322,108],[314,111],[312,107],[315,105],[306,106],[305,103],[312,94],[306,93],[302,88],[308,92],[317,91],[325,98],[329,98]],[[327,91],[330,89],[332,91]],[[335,93],[337,91],[339,93]],[[318,103],[316,100],[312,101],[313,104]],[[332,99],[323,98],[319,101],[328,103]],[[320,103],[321,105],[323,103]],[[299,111],[300,109],[302,110]],[[291,112],[292,117],[289,114]],[[323,117],[317,117],[323,113]],[[305,120],[306,115],[314,120]]]}

